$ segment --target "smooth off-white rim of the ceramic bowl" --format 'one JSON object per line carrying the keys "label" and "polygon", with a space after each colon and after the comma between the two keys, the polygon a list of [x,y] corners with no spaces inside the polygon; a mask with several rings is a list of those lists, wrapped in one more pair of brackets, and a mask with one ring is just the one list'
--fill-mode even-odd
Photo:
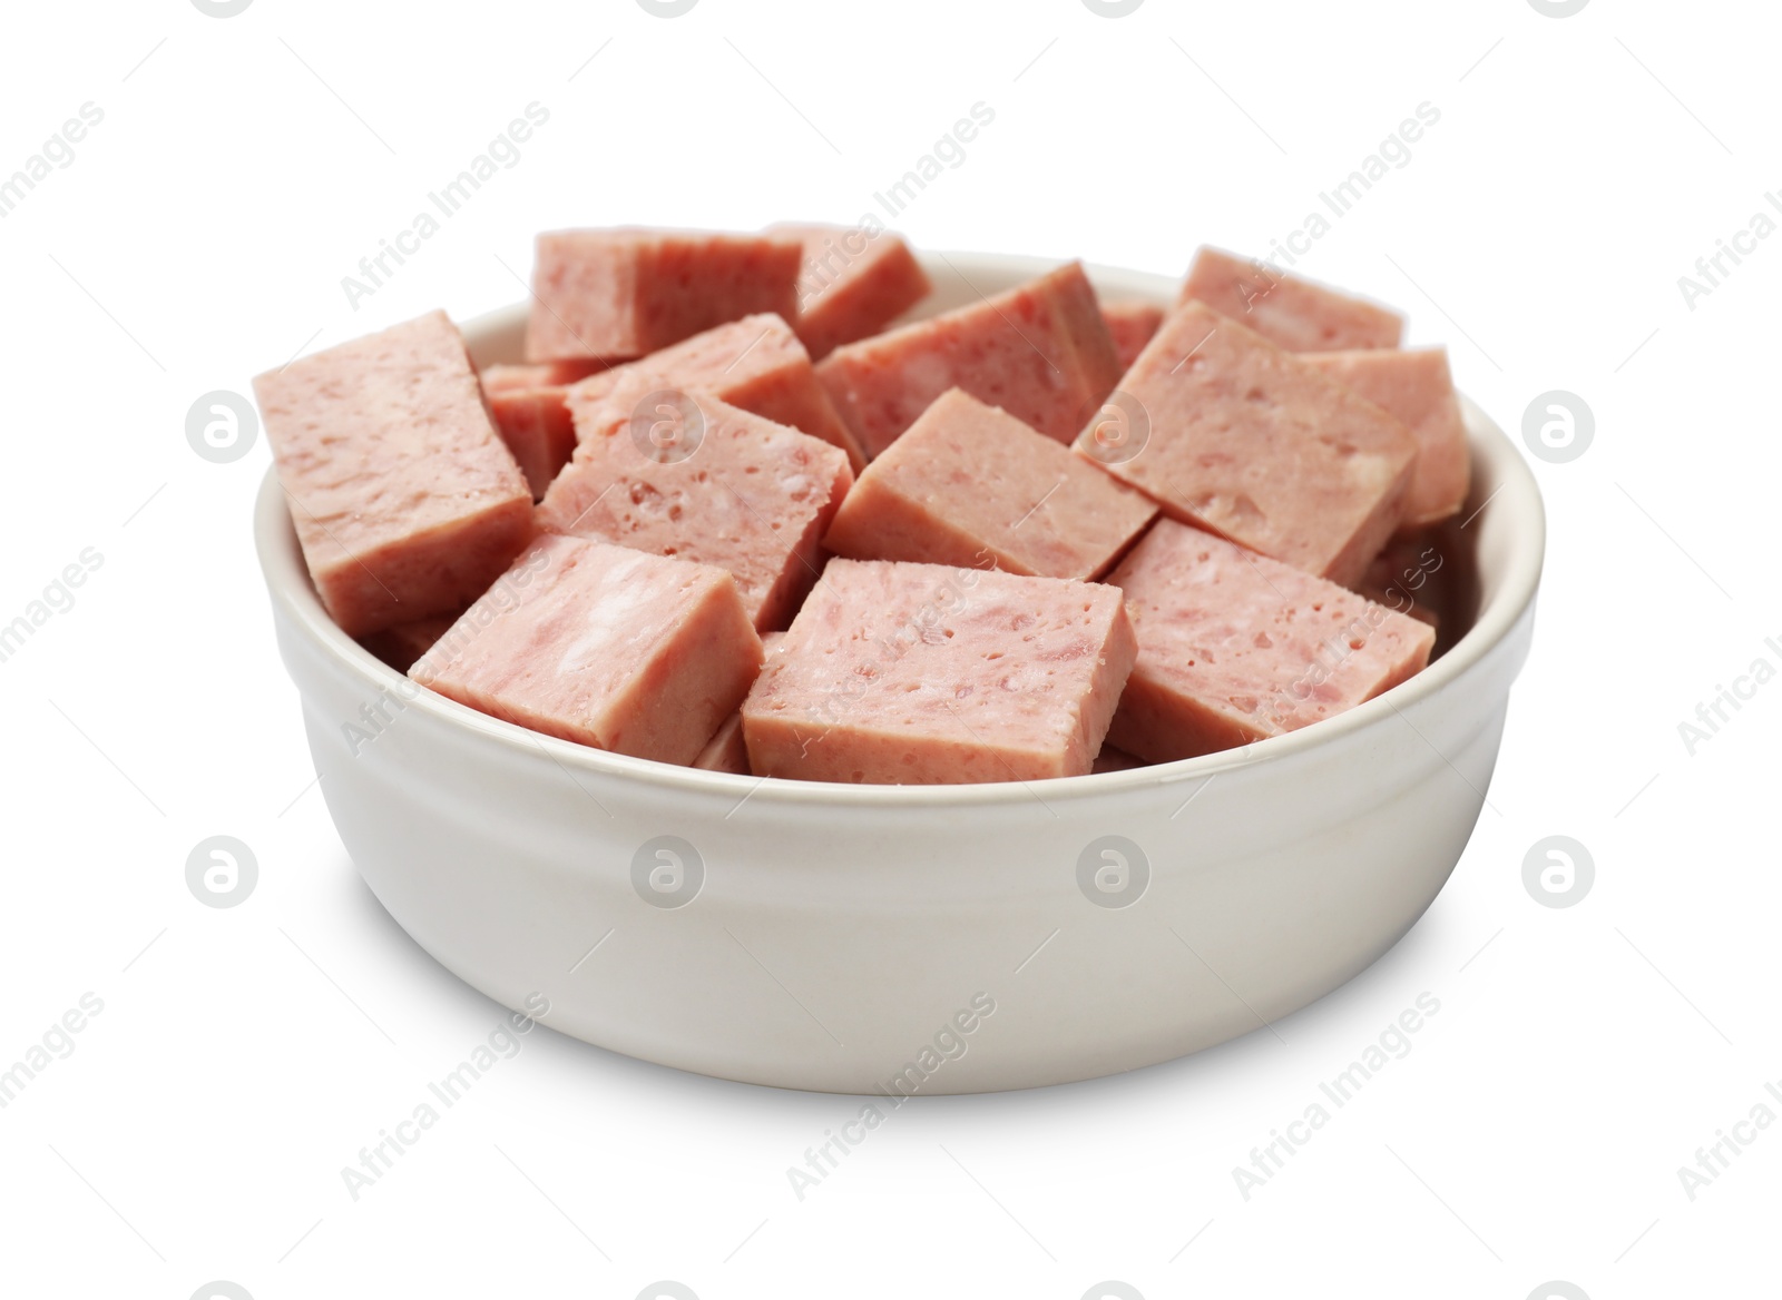
{"label": "smooth off-white rim of the ceramic bowl", "polygon": [[[985,274],[1014,272],[1023,278],[1041,276],[1062,265],[1066,260],[1018,256],[1007,253],[966,253],[966,251],[925,251],[918,253],[930,271],[952,274],[969,287],[969,278],[959,269],[966,264]],[[1124,292],[1155,297],[1160,305],[1173,299],[1178,280],[1157,272],[1128,267],[1103,267],[1085,264],[1091,281],[1119,283]],[[472,349],[479,337],[495,329],[510,329],[524,317],[527,303],[515,303],[494,312],[485,312],[460,328]],[[920,308],[918,308],[920,310]],[[410,682],[413,691],[403,693],[406,709],[422,709],[438,723],[463,732],[467,741],[486,741],[506,750],[544,753],[558,766],[581,769],[593,775],[618,780],[640,780],[668,792],[686,792],[690,796],[718,796],[741,803],[764,805],[825,805],[825,807],[985,807],[1014,805],[1039,798],[1071,801],[1094,798],[1121,791],[1137,791],[1153,785],[1178,785],[1187,780],[1212,780],[1214,776],[1238,768],[1258,764],[1278,764],[1310,750],[1340,743],[1345,735],[1367,730],[1390,714],[1402,712],[1429,696],[1440,693],[1472,668],[1484,661],[1520,623],[1522,616],[1534,602],[1540,586],[1541,563],[1545,556],[1547,516],[1541,502],[1540,484],[1527,461],[1516,451],[1508,435],[1486,415],[1472,399],[1461,394],[1461,415],[1467,424],[1467,442],[1474,459],[1474,477],[1479,468],[1488,467],[1490,477],[1497,483],[1492,495],[1474,508],[1474,515],[1486,506],[1497,504],[1500,511],[1515,511],[1511,522],[1511,545],[1502,572],[1495,575],[1497,589],[1481,605],[1474,623],[1467,632],[1433,664],[1383,695],[1374,696],[1335,718],[1312,723],[1294,732],[1271,735],[1263,741],[1221,750],[1196,759],[1176,759],[1173,762],[1148,764],[1124,771],[1087,773],[1083,776],[1053,776],[1039,782],[973,782],[960,785],[854,785],[839,782],[802,782],[775,780],[770,776],[745,776],[725,771],[706,771],[700,768],[679,768],[675,764],[656,762],[652,759],[634,759],[624,753],[595,750],[574,741],[563,741],[542,732],[533,732],[517,723],[503,721],[483,714],[469,705],[449,700],[444,695],[412,684],[405,673],[397,673],[381,659],[372,655],[340,627],[323,609],[303,563],[301,548],[290,524],[290,513],[283,502],[283,490],[278,483],[276,461],[267,467],[260,483],[253,511],[255,550],[260,570],[266,577],[267,591],[274,607],[285,614],[312,643],[328,652],[340,668],[347,668],[365,682],[367,691],[376,693],[388,687],[392,680]],[[1472,522],[1468,518],[1468,522]],[[1042,792],[1042,794],[1041,794]],[[734,812],[736,808],[732,808]]]}

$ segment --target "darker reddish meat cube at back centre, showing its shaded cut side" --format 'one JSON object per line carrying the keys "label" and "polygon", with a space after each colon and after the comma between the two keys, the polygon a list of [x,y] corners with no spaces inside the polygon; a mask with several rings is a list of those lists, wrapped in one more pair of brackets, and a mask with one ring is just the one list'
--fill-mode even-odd
{"label": "darker reddish meat cube at back centre, showing its shaded cut side", "polygon": [[902,329],[838,347],[818,378],[868,456],[948,388],[1069,442],[1119,381],[1114,338],[1080,262]]}

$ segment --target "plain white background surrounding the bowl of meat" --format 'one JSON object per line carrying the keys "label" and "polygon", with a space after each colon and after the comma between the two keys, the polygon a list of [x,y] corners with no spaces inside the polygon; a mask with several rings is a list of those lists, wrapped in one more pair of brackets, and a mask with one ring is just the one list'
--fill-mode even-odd
{"label": "plain white background surrounding the bowl of meat", "polygon": [[[1782,686],[1693,757],[1677,730],[1755,657],[1782,664],[1782,239],[1693,310],[1677,285],[1782,187],[1773,7],[135,0],[5,21],[0,176],[82,103],[105,118],[0,221],[0,622],[84,548],[103,565],[0,664],[0,1065],[82,994],[103,1012],[0,1109],[0,1293],[1775,1286],[1782,1125],[1695,1200],[1677,1175],[1782,1081]],[[535,100],[551,119],[519,166],[351,310],[340,278]],[[859,1102],[549,1031],[351,1200],[340,1166],[501,1010],[340,848],[249,548],[264,440],[212,465],[189,406],[433,306],[515,301],[538,228],[854,221],[975,102],[994,123],[896,223],[912,240],[1165,272],[1203,240],[1265,251],[1440,109],[1301,269],[1401,305],[1513,435],[1554,388],[1597,420],[1584,456],[1534,465],[1536,648],[1451,885],[1276,1033],[918,1101],[802,1202],[788,1165]],[[232,910],[184,882],[216,833],[260,864]],[[1522,885],[1552,833],[1597,864],[1566,910]],[[1246,1200],[1231,1168],[1422,992],[1442,1010],[1410,1054]]]}

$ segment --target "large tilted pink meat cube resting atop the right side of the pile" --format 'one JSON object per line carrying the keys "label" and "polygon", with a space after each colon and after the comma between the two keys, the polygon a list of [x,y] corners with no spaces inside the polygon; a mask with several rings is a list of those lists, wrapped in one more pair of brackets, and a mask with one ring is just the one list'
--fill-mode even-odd
{"label": "large tilted pink meat cube resting atop the right side of the pile", "polygon": [[1411,431],[1205,303],[1164,321],[1121,392],[1135,427],[1091,424],[1076,451],[1169,518],[1344,584],[1404,518]]}

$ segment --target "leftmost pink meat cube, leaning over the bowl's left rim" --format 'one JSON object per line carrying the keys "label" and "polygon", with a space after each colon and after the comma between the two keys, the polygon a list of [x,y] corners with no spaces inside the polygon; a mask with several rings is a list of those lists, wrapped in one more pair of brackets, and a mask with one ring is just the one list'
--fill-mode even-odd
{"label": "leftmost pink meat cube, leaning over the bowl's left rim", "polygon": [[463,609],[531,540],[531,492],[444,312],[253,390],[303,559],[347,636]]}

